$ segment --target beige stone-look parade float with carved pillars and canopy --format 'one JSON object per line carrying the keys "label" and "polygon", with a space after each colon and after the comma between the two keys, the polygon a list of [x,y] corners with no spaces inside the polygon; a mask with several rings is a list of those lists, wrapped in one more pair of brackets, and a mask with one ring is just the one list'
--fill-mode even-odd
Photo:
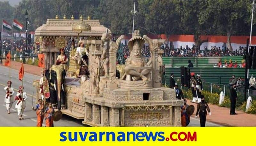
{"label": "beige stone-look parade float with carved pillars and canopy", "polygon": [[[62,22],[65,22],[65,28],[69,30],[57,35],[57,30],[63,30]],[[80,29],[81,22],[91,30]],[[81,82],[80,78],[72,73],[73,76],[67,75],[64,80],[59,77],[61,80],[59,84],[64,84],[62,88],[64,87],[65,101],[62,102],[64,106],[60,109],[62,113],[83,119],[83,124],[95,127],[181,126],[180,107],[183,100],[175,98],[174,89],[162,87],[163,50],[160,46],[164,40],[151,40],[147,35],[142,37],[140,32],[135,30],[128,42],[131,55],[125,62],[122,76],[117,78],[116,51],[124,36],[121,35],[116,42],[113,42],[110,30],[106,31],[106,29],[98,20],[48,19],[46,25],[36,30],[35,35],[39,38],[40,50],[46,54],[46,59],[48,53],[51,55],[51,52],[57,52],[61,47],[61,45],[58,47],[58,44],[65,41],[58,39],[59,37],[75,37],[77,30],[80,31],[80,36],[84,36],[82,40],[86,43],[89,58],[88,79]],[[45,45],[51,40],[50,38],[60,42]],[[149,44],[151,52],[148,62],[141,54],[144,43]],[[74,58],[76,51],[71,50],[71,52],[70,58]],[[48,61],[47,63],[49,64]],[[56,73],[52,76],[58,76],[57,72],[63,75],[60,73],[63,67],[60,66],[51,62],[46,69],[55,70]],[[70,59],[69,69],[72,66],[73,68],[77,66],[77,61]],[[49,81],[49,86],[51,84],[53,83]],[[58,81],[55,84],[60,86]],[[34,81],[33,86],[37,88],[37,98],[40,98],[39,81]],[[57,93],[60,92],[58,90],[56,88],[50,98],[62,97],[61,93]]]}

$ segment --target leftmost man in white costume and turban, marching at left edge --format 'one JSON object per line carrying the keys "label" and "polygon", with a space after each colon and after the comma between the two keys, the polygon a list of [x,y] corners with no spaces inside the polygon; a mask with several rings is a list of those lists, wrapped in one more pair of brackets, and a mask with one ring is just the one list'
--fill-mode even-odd
{"label": "leftmost man in white costume and turban, marching at left edge", "polygon": [[4,97],[4,103],[6,105],[6,110],[8,112],[8,114],[10,114],[10,109],[12,108],[12,103],[14,103],[13,100],[13,88],[11,87],[12,82],[8,81],[7,82],[7,86],[4,87],[4,90],[6,91],[5,97]]}

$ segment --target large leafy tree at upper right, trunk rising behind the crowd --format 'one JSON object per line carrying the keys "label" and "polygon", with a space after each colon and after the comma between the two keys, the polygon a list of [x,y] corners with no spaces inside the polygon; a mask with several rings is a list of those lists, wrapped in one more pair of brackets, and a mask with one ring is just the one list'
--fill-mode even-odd
{"label": "large leafy tree at upper right, trunk rising behind the crowd", "polygon": [[[227,34],[227,47],[232,50],[230,37],[233,33],[244,26],[247,13],[247,5],[250,3],[248,0],[206,0],[208,6],[201,18],[201,23],[205,24],[210,19],[213,19],[213,26],[219,27],[219,31]],[[213,16],[213,18],[211,17]],[[243,23],[241,23],[243,22]]]}

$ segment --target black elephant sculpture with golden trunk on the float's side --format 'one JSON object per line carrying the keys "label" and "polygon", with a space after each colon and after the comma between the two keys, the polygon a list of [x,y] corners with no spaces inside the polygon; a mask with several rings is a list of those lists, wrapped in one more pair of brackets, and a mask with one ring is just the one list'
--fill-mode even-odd
{"label": "black elephant sculpture with golden trunk on the float's side", "polygon": [[65,109],[66,91],[65,76],[66,71],[63,65],[52,65],[46,70],[45,76],[49,82],[50,98],[46,101],[53,105],[58,105],[58,109]]}

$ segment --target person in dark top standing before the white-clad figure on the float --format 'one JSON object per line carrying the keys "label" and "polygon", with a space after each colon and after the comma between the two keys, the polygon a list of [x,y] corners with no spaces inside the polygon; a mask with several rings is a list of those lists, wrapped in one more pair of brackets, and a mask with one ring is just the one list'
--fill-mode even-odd
{"label": "person in dark top standing before the white-clad figure on the float", "polygon": [[81,77],[81,83],[87,80],[89,76],[89,58],[86,52],[82,52],[83,57],[79,61],[80,69],[79,69],[79,76]]}

